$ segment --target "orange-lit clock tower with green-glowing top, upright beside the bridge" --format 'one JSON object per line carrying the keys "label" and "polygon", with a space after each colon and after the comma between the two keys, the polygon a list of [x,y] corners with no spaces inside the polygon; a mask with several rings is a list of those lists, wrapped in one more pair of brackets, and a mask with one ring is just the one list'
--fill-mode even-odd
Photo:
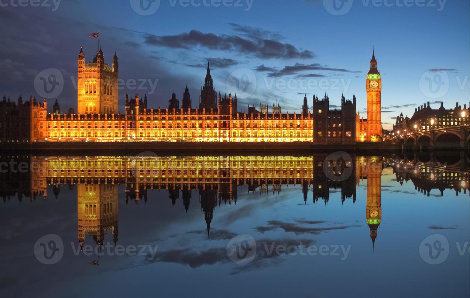
{"label": "orange-lit clock tower with green-glowing top, upright beside the bridge", "polygon": [[[372,50],[370,69],[366,79],[367,90],[367,136],[368,140],[377,140],[373,136],[382,137],[381,104],[380,94],[382,92],[382,79],[377,69],[376,56]],[[371,139],[372,138],[372,139]],[[378,140],[377,140],[378,141]]]}

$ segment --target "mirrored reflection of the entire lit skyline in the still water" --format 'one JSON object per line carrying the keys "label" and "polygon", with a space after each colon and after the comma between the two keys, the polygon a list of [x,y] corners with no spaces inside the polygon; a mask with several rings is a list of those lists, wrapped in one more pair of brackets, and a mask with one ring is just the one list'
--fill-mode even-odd
{"label": "mirrored reflection of the entire lit skyline in the still water", "polygon": [[[412,156],[2,156],[8,166],[27,164],[26,171],[2,171],[0,195],[3,201],[17,196],[47,200],[48,189],[57,199],[62,187],[77,189],[78,243],[93,237],[101,247],[105,234],[118,241],[118,185],[125,185],[125,203],[147,202],[149,189],[165,189],[173,205],[182,201],[188,211],[193,190],[199,195],[207,233],[217,205],[237,202],[237,188],[248,185],[249,193],[280,193],[282,185],[301,185],[306,203],[329,201],[330,189],[341,189],[341,201],[356,201],[356,187],[367,181],[366,221],[374,246],[382,220],[381,176],[391,167],[397,182],[411,180],[423,194],[453,189],[456,195],[469,190],[468,157],[443,159],[430,154]],[[348,155],[349,156],[349,155]],[[336,159],[337,157],[335,157]],[[4,166],[3,169],[6,167]]]}

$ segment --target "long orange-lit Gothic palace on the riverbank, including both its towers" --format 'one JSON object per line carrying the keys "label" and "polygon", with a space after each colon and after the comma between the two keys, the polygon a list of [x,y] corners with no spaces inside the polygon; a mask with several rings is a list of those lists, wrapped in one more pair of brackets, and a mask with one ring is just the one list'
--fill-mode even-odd
{"label": "long orange-lit Gothic palace on the riverbank, including both its towers", "polygon": [[238,112],[236,95],[216,94],[210,65],[193,107],[188,87],[181,102],[173,92],[164,109],[149,108],[148,98],[125,95],[118,112],[118,56],[106,64],[102,49],[86,63],[78,53],[77,113],[61,113],[32,97],[0,101],[1,144],[37,142],[311,142],[354,144],[382,140],[382,79],[372,54],[366,78],[367,119],[356,113],[356,97],[341,97],[341,110],[329,109],[329,97],[313,95],[310,112],[305,95],[302,113],[282,113],[281,105],[249,106]]}

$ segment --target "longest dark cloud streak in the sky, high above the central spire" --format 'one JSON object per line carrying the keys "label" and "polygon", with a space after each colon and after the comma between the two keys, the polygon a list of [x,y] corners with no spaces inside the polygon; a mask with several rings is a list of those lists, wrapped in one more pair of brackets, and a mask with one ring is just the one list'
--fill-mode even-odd
{"label": "longest dark cloud streak in the sky, high above the central spire", "polygon": [[258,58],[313,58],[311,51],[301,51],[289,43],[282,43],[272,39],[245,39],[236,35],[216,35],[214,33],[203,33],[191,30],[188,33],[176,35],[157,36],[153,34],[144,35],[145,43],[148,45],[191,49],[194,46],[251,54]]}

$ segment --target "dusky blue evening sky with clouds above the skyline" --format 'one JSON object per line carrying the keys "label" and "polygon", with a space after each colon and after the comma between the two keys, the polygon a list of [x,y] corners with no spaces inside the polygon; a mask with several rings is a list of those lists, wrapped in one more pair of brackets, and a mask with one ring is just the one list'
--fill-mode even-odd
{"label": "dusky blue evening sky with clouds above the skyline", "polygon": [[[465,0],[417,0],[407,2],[409,7],[403,0],[349,0],[345,6],[352,6],[342,16],[327,11],[329,0],[253,0],[251,6],[242,0],[242,7],[234,7],[237,1],[219,7],[211,6],[211,0],[205,1],[209,7],[194,7],[189,1],[185,7],[184,1],[160,0],[149,16],[137,13],[133,1],[62,0],[55,6],[49,0],[51,7],[3,1],[0,92],[15,100],[20,93],[42,97],[33,81],[42,70],[56,68],[64,78],[57,96],[61,108],[76,108],[73,81],[79,47],[92,60],[97,40],[88,34],[100,30],[105,62],[111,63],[114,51],[119,57],[121,112],[126,92],[147,93],[149,105],[163,108],[173,90],[182,97],[186,84],[195,107],[209,59],[217,92],[237,93],[238,110],[247,110],[249,103],[277,101],[283,112],[300,112],[304,93],[310,106],[313,93],[326,92],[331,105],[340,105],[342,93],[346,98],[355,93],[365,117],[372,46],[383,79],[384,128],[400,112],[411,116],[423,102],[436,102],[431,105],[437,107],[443,101],[448,108],[457,101],[468,103]],[[426,90],[428,77],[443,84],[440,92]],[[235,86],[236,79],[243,83],[247,78],[248,89]],[[136,88],[133,80],[136,87],[145,83]]]}

